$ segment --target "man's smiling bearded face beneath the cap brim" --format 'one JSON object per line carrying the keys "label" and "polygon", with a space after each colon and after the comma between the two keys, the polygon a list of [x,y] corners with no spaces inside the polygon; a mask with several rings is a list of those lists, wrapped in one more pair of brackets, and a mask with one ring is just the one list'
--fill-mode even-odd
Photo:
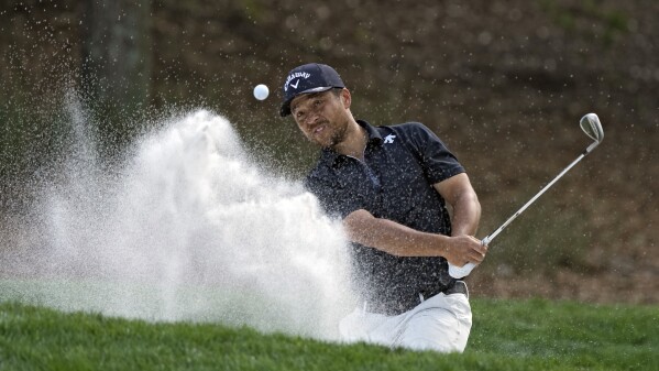
{"label": "man's smiling bearded face beneath the cap brim", "polygon": [[332,148],[345,139],[349,113],[344,95],[349,95],[345,89],[340,96],[330,89],[293,99],[290,112],[307,139],[321,148]]}

